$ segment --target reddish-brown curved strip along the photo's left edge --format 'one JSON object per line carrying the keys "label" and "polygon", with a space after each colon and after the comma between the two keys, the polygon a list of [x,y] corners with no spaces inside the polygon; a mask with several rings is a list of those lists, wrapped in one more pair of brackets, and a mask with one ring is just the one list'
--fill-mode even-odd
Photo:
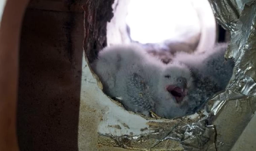
{"label": "reddish-brown curved strip along the photo's left edge", "polygon": [[28,0],[7,0],[0,25],[0,151],[18,151],[16,100],[18,50]]}

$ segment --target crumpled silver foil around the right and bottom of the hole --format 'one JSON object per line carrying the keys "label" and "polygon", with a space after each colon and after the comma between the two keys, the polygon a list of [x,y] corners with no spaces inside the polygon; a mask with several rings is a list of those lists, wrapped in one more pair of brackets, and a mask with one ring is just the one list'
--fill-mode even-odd
{"label": "crumpled silver foil around the right and bottom of the hole", "polygon": [[209,2],[218,22],[231,36],[225,57],[234,58],[235,68],[226,90],[214,95],[195,120],[178,118],[170,127],[149,123],[154,125],[150,128],[155,132],[140,136],[99,134],[99,143],[135,150],[228,151],[232,148],[256,110],[256,2]]}

